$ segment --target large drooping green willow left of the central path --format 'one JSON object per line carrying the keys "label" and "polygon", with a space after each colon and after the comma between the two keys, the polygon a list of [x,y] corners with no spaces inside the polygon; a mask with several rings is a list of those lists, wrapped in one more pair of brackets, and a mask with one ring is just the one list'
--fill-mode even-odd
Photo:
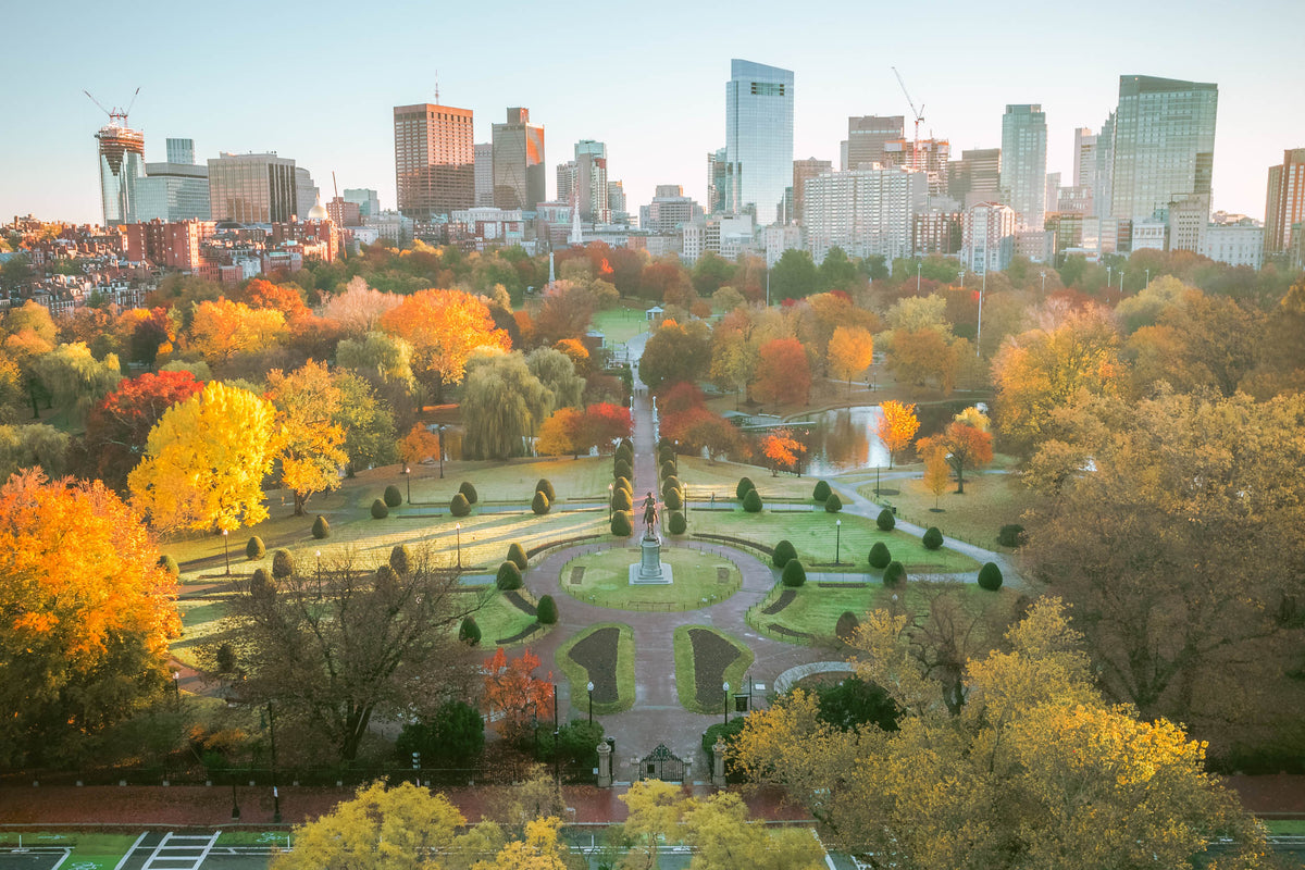
{"label": "large drooping green willow left of the central path", "polygon": [[475,356],[462,390],[463,453],[472,459],[519,457],[552,410],[552,390],[519,351]]}

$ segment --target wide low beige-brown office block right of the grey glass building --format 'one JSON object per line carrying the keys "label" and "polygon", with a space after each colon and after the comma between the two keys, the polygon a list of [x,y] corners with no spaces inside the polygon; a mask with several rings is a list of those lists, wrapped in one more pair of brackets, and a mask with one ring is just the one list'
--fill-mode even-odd
{"label": "wide low beige-brown office block right of the grey glass building", "polygon": [[275,154],[226,151],[210,158],[209,207],[218,222],[290,220],[291,215],[299,214],[295,162]]}

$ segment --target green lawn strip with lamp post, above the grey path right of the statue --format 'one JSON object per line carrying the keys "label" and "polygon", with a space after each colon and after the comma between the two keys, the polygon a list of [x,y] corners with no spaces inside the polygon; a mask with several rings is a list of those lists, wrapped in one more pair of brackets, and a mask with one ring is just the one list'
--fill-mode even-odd
{"label": "green lawn strip with lamp post, above the grey path right of the statue", "polygon": [[[837,532],[835,520],[842,519],[842,532]],[[920,539],[900,531],[882,532],[873,519],[852,514],[826,514],[823,510],[809,513],[749,514],[741,509],[724,511],[693,511],[689,532],[710,532],[774,547],[780,540],[792,541],[797,548],[797,558],[808,571],[835,570],[833,566],[835,544],[842,573],[876,573],[867,562],[870,547],[876,541],[887,544],[893,558],[906,566],[907,574],[954,574],[977,571],[979,562],[949,550],[947,548],[928,550]]]}

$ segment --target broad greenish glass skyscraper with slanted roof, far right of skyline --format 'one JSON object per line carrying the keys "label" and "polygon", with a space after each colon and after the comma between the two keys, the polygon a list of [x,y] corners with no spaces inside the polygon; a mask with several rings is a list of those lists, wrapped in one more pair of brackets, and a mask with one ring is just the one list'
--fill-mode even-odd
{"label": "broad greenish glass skyscraper with slanted roof, far right of skyline", "polygon": [[1171,202],[1190,197],[1208,211],[1218,107],[1218,85],[1120,76],[1112,218],[1164,220]]}

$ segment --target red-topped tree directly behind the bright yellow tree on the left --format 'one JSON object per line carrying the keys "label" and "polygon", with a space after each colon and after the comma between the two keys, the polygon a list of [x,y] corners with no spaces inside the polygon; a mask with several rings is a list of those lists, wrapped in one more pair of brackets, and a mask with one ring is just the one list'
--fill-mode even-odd
{"label": "red-topped tree directly behind the bright yellow tree on the left", "polygon": [[163,412],[204,387],[189,372],[146,372],[119,382],[86,419],[89,471],[124,492],[127,475],[141,460],[150,430]]}

